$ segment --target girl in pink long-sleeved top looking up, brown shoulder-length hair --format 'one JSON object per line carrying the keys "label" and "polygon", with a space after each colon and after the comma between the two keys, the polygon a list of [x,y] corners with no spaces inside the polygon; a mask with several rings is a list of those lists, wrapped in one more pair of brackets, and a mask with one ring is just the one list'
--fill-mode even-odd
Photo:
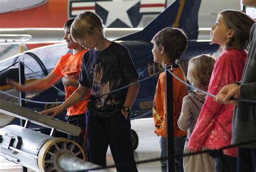
{"label": "girl in pink long-sleeved top looking up, brown shoulder-length hair", "polygon": [[[240,11],[225,10],[219,13],[212,26],[211,40],[219,44],[223,52],[215,62],[209,93],[216,95],[225,85],[241,80],[247,56],[244,49],[248,46],[254,22]],[[233,110],[234,105],[219,104],[207,96],[187,148],[199,151],[203,146],[218,149],[230,145]],[[236,171],[237,148],[225,149],[223,154],[215,158],[217,172]]]}

